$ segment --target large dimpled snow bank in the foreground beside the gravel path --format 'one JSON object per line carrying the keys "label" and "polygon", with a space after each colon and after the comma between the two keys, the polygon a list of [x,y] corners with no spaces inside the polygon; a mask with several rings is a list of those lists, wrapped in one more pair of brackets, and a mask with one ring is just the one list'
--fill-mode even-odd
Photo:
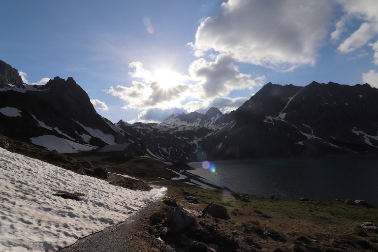
{"label": "large dimpled snow bank in the foreground beside the gravel path", "polygon": [[[163,188],[164,189],[164,188]],[[161,196],[79,175],[0,148],[0,251],[52,251],[124,221]],[[80,192],[79,201],[53,196]]]}

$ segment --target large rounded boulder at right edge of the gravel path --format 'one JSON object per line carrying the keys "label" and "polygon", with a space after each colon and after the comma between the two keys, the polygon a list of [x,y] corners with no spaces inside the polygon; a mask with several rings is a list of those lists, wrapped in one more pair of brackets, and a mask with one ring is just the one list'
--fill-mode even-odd
{"label": "large rounded boulder at right edge of the gravel path", "polygon": [[166,223],[168,228],[174,232],[181,232],[184,229],[195,231],[197,229],[195,217],[182,207],[169,209]]}

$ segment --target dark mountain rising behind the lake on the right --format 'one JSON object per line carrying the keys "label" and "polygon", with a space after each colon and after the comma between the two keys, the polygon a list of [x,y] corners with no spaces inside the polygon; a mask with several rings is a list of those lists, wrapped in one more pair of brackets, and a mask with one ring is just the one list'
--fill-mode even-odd
{"label": "dark mountain rising behind the lake on the right", "polygon": [[376,156],[377,115],[368,84],[268,83],[202,148],[209,159]]}

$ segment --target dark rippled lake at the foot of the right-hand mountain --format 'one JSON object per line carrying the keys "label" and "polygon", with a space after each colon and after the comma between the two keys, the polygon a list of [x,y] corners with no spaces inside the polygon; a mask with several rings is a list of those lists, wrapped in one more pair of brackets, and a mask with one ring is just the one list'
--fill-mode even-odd
{"label": "dark rippled lake at the foot of the right-hand mountain", "polygon": [[[361,199],[378,205],[378,158],[255,159],[189,165],[189,172],[231,190],[280,199]],[[205,167],[209,165],[204,163]]]}

